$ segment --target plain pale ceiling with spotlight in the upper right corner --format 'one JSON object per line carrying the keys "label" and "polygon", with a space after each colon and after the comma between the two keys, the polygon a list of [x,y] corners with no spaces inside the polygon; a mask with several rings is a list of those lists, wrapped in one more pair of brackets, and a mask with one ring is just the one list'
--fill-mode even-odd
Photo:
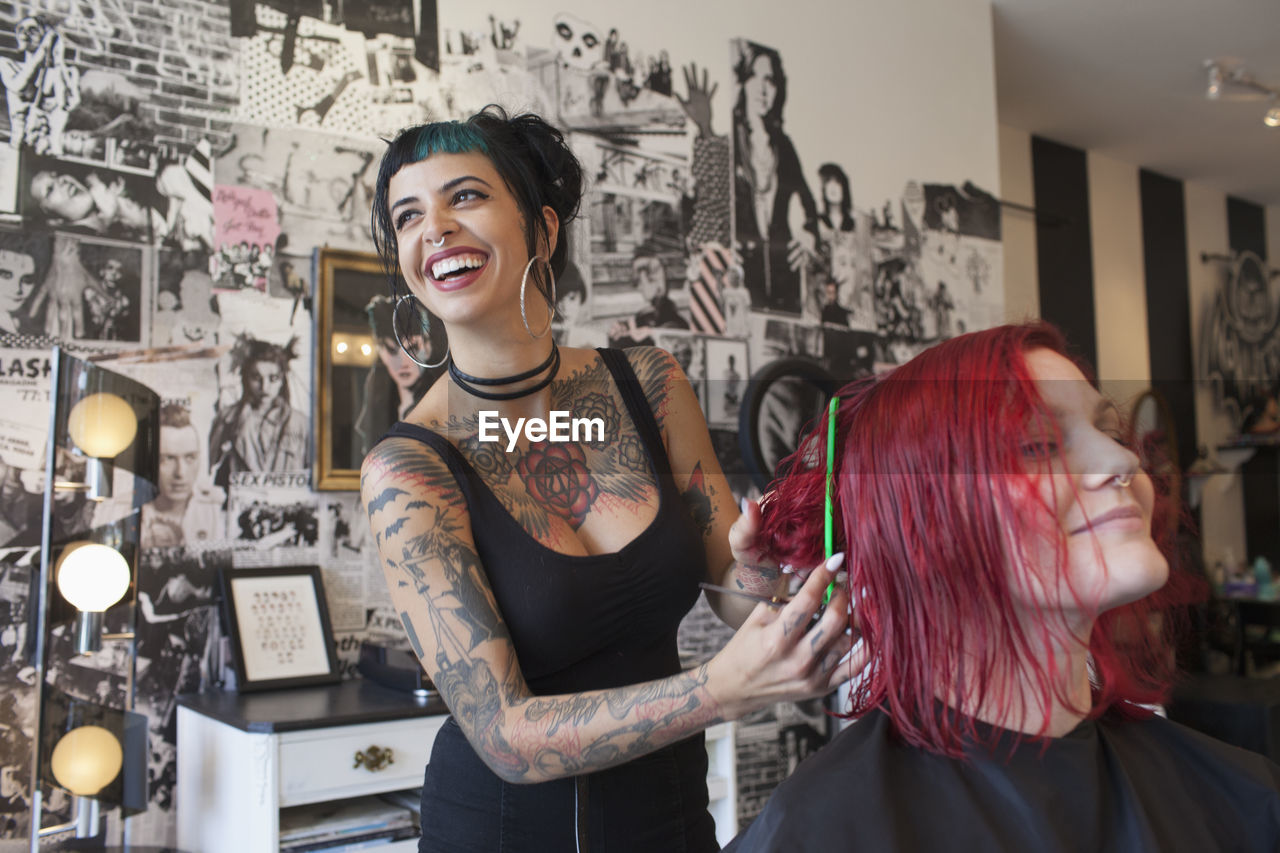
{"label": "plain pale ceiling with spotlight in the upper right corner", "polygon": [[1204,97],[1206,59],[1280,87],[1280,0],[992,0],[1001,124],[1263,205],[1280,128]]}

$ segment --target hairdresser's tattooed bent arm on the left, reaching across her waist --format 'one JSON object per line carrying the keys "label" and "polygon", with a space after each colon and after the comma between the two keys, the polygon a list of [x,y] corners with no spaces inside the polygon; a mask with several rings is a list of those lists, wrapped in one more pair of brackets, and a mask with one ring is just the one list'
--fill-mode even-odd
{"label": "hairdresser's tattooed bent arm on the left, reaching across her waist", "polygon": [[[696,669],[534,695],[448,466],[417,442],[390,438],[365,459],[361,492],[413,651],[476,753],[507,781],[612,767],[772,702],[822,695],[846,678],[836,666],[850,648],[844,608],[828,608],[806,631],[822,598],[822,587],[810,585],[781,611],[753,613]],[[813,574],[826,584],[824,573]]]}

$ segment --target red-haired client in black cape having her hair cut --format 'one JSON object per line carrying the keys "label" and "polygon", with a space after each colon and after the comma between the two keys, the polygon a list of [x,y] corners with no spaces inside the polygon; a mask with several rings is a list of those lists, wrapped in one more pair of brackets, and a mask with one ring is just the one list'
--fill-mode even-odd
{"label": "red-haired client in black cape having her hair cut", "polygon": [[[1153,715],[1174,676],[1172,500],[1042,324],[952,338],[845,389],[836,547],[860,717],[733,850],[1276,850],[1280,767]],[[812,560],[827,430],[756,542]]]}

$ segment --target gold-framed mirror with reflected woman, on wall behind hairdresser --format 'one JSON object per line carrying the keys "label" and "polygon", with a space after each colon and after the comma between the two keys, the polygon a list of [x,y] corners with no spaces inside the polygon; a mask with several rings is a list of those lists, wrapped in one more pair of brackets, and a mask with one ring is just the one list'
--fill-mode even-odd
{"label": "gold-framed mirror with reflected woman, on wall behind hairdresser", "polygon": [[358,489],[365,453],[443,371],[413,359],[435,364],[447,345],[439,323],[424,330],[416,301],[396,314],[376,255],[317,250],[316,278],[315,487]]}

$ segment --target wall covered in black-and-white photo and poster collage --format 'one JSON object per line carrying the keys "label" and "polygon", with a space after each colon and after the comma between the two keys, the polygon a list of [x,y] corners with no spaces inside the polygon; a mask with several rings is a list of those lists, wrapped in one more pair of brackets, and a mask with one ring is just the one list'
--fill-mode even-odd
{"label": "wall covered in black-and-white photo and poster collage", "polygon": [[[332,345],[314,333],[316,252],[372,251],[378,159],[398,128],[498,102],[566,132],[590,186],[557,339],[675,353],[742,494],[756,493],[737,442],[754,373],[800,357],[852,379],[1001,320],[984,1],[815,5],[804,26],[728,3],[576,5],[0,3],[0,838],[28,826],[22,648],[55,343],[163,400],[157,497],[141,510],[150,807],[134,843],[174,840],[174,697],[223,680],[220,569],[320,566],[344,675],[361,640],[403,644],[358,494],[312,487],[312,364]],[[867,91],[840,95],[846,79]],[[422,384],[366,313],[378,297],[360,295],[343,329],[378,345],[353,362],[353,467]],[[67,532],[127,510],[55,505]],[[691,662],[724,639],[704,605],[681,631]],[[123,644],[69,644],[55,635],[60,684],[123,706]],[[824,729],[814,708],[744,721],[741,821]],[[51,822],[65,798],[46,806]]]}

